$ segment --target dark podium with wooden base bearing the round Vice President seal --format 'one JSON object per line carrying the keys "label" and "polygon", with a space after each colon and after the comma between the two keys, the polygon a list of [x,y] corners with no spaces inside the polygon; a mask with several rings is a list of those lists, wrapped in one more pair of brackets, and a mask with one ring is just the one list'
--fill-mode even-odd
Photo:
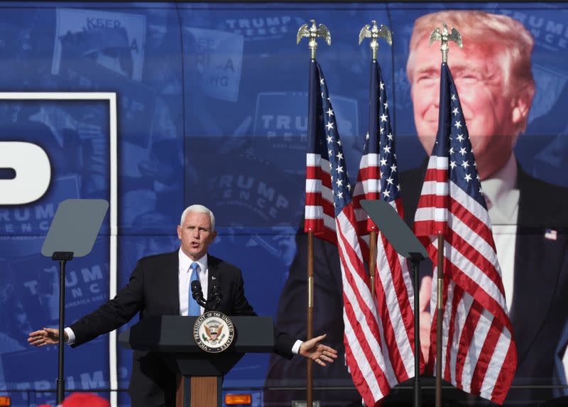
{"label": "dark podium with wooden base bearing the round Vice President seal", "polygon": [[176,407],[222,407],[222,380],[245,353],[274,349],[272,317],[231,317],[235,337],[219,353],[205,352],[193,339],[197,317],[162,315],[143,318],[119,335],[127,349],[160,354],[178,374]]}

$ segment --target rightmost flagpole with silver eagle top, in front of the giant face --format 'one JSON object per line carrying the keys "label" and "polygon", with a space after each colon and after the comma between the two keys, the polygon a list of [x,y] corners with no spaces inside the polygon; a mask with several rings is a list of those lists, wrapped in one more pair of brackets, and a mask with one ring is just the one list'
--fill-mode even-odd
{"label": "rightmost flagpole with silver eagle top, in front of the giant face", "polygon": [[[448,31],[446,23],[442,23],[442,30],[435,28],[430,34],[430,43],[440,41],[442,44],[439,50],[442,52],[442,65],[448,62],[448,41],[454,41],[461,48],[461,35],[452,28]],[[442,90],[440,90],[440,99],[442,98]],[[439,104],[442,109],[442,103]],[[440,114],[440,117],[442,115]],[[439,126],[445,124],[439,123]],[[438,232],[438,259],[437,259],[437,305],[436,305],[436,407],[442,407],[442,322],[444,320],[444,234]]]}

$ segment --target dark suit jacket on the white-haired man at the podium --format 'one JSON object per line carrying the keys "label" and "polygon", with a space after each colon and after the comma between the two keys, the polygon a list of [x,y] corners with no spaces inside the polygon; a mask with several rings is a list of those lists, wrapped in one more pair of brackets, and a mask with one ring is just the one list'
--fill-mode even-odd
{"label": "dark suit jacket on the white-haired man at the podium", "polygon": [[[219,311],[226,315],[256,315],[244,295],[241,270],[208,256],[209,290],[212,298],[212,278],[222,289]],[[77,320],[70,327],[75,333],[73,347],[115,330],[140,313],[140,318],[153,315],[180,315],[178,283],[178,250],[140,259],[129,283],[93,313]],[[276,332],[274,352],[292,358],[294,341],[284,332]],[[175,374],[158,355],[151,352],[133,353],[129,394],[134,407],[173,405],[175,401]]]}

